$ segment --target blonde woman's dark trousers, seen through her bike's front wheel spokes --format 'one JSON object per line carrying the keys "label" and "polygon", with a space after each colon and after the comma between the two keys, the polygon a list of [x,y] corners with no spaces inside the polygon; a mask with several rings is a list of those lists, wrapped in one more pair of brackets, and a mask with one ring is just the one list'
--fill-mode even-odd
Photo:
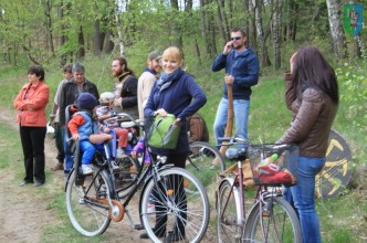
{"label": "blonde woman's dark trousers, seen through her bike's front wheel spokes", "polygon": [[[166,163],[174,163],[176,167],[185,168],[188,154],[175,154],[167,156]],[[153,155],[154,159],[156,156]],[[171,189],[175,193],[167,196],[167,190]],[[159,196],[160,194],[160,196]],[[187,220],[187,201],[184,188],[184,178],[181,176],[171,176],[168,181],[158,182],[157,187],[153,190],[153,198],[155,200],[172,200],[176,205],[180,207],[180,213],[176,219],[174,233],[176,235],[185,235],[185,225]],[[165,202],[156,202],[156,234],[165,233],[167,225],[167,205]]]}

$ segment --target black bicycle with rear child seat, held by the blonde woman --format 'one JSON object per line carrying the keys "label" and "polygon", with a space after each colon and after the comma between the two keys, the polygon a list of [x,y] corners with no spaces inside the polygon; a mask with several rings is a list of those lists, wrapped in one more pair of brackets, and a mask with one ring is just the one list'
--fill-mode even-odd
{"label": "black bicycle with rear child seat, held by the blonde woman", "polygon": [[[209,222],[209,200],[202,183],[187,170],[165,165],[165,160],[158,157],[147,169],[139,167],[134,180],[136,182],[129,184],[132,188],[122,202],[113,176],[108,144],[104,142],[105,155],[95,155],[93,175],[82,176],[75,166],[67,179],[66,209],[74,229],[85,236],[96,236],[107,230],[112,220],[118,222],[126,213],[132,228],[144,228],[154,242],[160,242],[159,237],[175,232],[179,224],[185,229],[185,235],[178,237],[199,242]],[[127,209],[141,187],[138,209],[143,225],[135,224]],[[187,193],[187,190],[193,193]],[[155,209],[149,211],[151,203]],[[153,229],[156,216],[167,218],[166,234],[158,234]]]}

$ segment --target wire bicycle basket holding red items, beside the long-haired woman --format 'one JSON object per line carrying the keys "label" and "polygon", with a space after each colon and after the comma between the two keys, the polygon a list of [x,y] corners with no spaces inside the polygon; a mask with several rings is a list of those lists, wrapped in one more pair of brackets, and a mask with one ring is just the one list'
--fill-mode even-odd
{"label": "wire bicycle basket holding red items, beside the long-haired woman", "polygon": [[296,183],[300,157],[296,145],[249,145],[248,156],[255,184],[293,186]]}

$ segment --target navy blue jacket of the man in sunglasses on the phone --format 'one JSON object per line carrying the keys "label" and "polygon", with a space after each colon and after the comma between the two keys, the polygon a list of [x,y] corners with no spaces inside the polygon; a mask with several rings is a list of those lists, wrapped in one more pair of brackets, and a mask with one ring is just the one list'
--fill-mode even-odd
{"label": "navy blue jacket of the man in sunglasses on the phone", "polygon": [[[219,54],[211,70],[218,72],[222,68],[234,77],[233,99],[250,99],[251,86],[259,82],[260,67],[256,54],[250,47],[239,53],[232,50],[228,55]],[[228,98],[226,83],[223,83],[223,97]]]}

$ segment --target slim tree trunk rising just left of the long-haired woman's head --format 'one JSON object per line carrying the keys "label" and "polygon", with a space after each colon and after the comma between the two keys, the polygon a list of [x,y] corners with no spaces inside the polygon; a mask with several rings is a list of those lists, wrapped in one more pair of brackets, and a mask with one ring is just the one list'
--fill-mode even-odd
{"label": "slim tree trunk rising just left of the long-haired woman's head", "polygon": [[281,7],[282,0],[273,1],[272,36],[274,50],[274,70],[281,68]]}

